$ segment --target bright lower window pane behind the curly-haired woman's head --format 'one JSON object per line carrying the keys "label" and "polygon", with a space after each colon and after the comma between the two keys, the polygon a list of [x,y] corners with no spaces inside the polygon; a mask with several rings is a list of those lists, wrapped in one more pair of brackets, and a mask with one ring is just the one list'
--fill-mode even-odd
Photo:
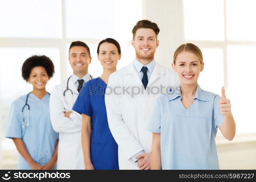
{"label": "bright lower window pane behind the curly-haired woman's head", "polygon": [[[48,56],[54,64],[55,74],[46,85],[48,92],[60,82],[60,58],[58,48],[0,48],[0,93],[1,102],[10,104],[19,96],[32,91],[32,86],[22,78],[22,64],[32,55]],[[17,89],[22,88],[22,89]]]}

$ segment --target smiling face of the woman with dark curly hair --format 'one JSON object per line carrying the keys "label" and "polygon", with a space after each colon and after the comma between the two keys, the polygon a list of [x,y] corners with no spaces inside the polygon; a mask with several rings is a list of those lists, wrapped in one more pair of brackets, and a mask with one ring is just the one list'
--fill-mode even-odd
{"label": "smiling face of the woman with dark curly hair", "polygon": [[44,67],[37,66],[31,69],[29,83],[33,85],[34,90],[45,90],[45,85],[49,77]]}

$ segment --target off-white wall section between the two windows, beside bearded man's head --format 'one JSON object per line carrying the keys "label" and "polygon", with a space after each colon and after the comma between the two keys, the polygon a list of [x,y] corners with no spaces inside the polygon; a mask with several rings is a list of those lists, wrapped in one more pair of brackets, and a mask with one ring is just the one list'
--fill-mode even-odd
{"label": "off-white wall section between the two windows, beside bearded man's head", "polygon": [[157,23],[159,47],[155,59],[171,68],[173,54],[184,43],[182,0],[143,0],[143,19]]}

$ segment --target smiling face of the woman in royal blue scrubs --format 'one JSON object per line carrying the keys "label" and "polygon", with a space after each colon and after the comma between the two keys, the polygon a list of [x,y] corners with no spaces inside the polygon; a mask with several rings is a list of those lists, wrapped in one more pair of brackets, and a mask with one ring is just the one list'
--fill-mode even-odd
{"label": "smiling face of the woman in royal blue scrubs", "polygon": [[116,70],[117,61],[120,58],[121,54],[118,54],[118,49],[114,44],[105,42],[99,46],[98,60],[103,68]]}

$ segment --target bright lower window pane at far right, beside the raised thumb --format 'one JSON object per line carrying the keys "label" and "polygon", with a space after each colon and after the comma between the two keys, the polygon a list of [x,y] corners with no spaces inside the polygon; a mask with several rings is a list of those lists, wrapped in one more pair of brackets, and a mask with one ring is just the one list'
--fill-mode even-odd
{"label": "bright lower window pane at far right, beside the raised thumb", "polygon": [[[255,132],[256,46],[228,46],[228,87],[237,133]],[[251,75],[251,76],[250,76]]]}

